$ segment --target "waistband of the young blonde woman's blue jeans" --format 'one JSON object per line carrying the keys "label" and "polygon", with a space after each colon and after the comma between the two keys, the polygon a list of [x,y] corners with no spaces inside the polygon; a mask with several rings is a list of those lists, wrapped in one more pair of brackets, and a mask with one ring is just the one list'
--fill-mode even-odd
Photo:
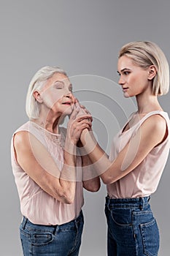
{"label": "waistband of the young blonde woman's blue jeans", "polygon": [[136,198],[110,198],[108,195],[106,197],[106,205],[112,207],[136,207],[144,208],[147,206],[150,200],[148,197],[136,197]]}

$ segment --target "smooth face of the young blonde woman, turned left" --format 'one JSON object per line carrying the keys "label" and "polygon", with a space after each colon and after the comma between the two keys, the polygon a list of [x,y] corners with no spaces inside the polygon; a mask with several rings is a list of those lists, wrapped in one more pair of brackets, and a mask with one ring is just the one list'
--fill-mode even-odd
{"label": "smooth face of the young blonde woman, turned left", "polygon": [[117,72],[120,75],[124,97],[134,97],[148,89],[148,69],[136,66],[131,58],[121,56],[117,62]]}

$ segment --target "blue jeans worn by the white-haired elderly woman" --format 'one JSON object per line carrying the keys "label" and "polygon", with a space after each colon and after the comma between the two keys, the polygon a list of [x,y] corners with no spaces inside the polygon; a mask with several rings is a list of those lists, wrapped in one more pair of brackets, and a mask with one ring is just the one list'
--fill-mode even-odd
{"label": "blue jeans worn by the white-haired elderly woman", "polygon": [[84,218],[63,225],[35,225],[26,217],[20,224],[20,240],[24,256],[77,256],[79,255]]}

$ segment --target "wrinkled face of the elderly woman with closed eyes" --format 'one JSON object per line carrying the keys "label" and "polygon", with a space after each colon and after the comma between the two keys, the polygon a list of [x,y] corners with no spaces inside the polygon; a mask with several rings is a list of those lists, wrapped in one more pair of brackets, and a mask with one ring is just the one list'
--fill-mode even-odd
{"label": "wrinkled face of the elderly woman with closed eyes", "polygon": [[72,83],[66,75],[55,73],[40,91],[42,103],[54,112],[72,113],[75,98]]}

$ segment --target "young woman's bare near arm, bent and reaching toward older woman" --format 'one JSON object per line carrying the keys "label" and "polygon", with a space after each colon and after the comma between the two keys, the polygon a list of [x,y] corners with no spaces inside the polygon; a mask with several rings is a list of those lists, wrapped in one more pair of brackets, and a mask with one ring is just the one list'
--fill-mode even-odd
{"label": "young woman's bare near arm, bent and reaching toward older woman", "polygon": [[[120,151],[114,162],[109,162],[102,148],[87,130],[82,132],[81,141],[104,184],[111,184],[134,170],[147,157],[152,148],[163,141],[165,135],[166,121],[164,118],[158,115],[150,116]],[[88,143],[85,143],[86,141]]]}

